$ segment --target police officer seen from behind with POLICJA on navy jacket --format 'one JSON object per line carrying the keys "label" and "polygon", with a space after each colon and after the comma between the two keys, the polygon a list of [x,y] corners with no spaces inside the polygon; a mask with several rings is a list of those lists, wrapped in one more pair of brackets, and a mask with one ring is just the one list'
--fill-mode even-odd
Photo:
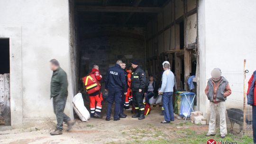
{"label": "police officer seen from behind with POLICJA on navy jacket", "polygon": [[124,74],[124,70],[121,69],[122,61],[118,60],[115,66],[110,67],[107,71],[105,78],[105,90],[109,91],[109,95],[107,97],[108,101],[108,109],[107,109],[107,117],[106,121],[110,121],[111,116],[111,108],[115,101],[114,108],[114,121],[120,120],[119,111],[120,104],[122,101],[122,92],[126,94],[127,92],[127,82]]}

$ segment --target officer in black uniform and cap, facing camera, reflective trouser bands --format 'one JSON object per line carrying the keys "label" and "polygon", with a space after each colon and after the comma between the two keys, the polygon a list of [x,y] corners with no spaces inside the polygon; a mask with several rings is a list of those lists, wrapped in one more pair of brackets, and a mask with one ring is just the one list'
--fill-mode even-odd
{"label": "officer in black uniform and cap, facing camera, reflective trouser bands", "polygon": [[131,76],[131,90],[133,95],[133,102],[135,106],[135,114],[133,118],[138,117],[139,120],[144,119],[144,89],[146,87],[145,72],[138,66],[137,61],[132,62],[132,76]]}

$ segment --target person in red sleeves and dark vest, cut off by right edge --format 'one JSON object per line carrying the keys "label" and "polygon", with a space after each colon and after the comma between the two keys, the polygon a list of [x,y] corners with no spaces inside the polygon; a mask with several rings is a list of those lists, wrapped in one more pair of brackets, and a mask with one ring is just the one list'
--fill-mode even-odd
{"label": "person in red sleeves and dark vest, cut off by right edge", "polygon": [[256,71],[248,81],[247,103],[252,106],[253,115],[253,141],[256,144]]}

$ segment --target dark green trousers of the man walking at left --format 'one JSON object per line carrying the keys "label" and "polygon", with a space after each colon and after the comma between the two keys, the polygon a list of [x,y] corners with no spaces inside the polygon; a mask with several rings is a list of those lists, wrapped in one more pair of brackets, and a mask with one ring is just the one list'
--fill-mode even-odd
{"label": "dark green trousers of the man walking at left", "polygon": [[56,128],[59,130],[63,130],[63,122],[67,123],[68,121],[70,121],[70,118],[66,114],[64,114],[66,100],[67,97],[61,96],[53,98],[54,113],[57,118]]}

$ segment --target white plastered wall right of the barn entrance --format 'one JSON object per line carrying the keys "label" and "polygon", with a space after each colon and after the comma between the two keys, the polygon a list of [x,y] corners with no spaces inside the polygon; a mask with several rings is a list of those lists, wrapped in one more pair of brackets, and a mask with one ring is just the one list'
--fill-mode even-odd
{"label": "white plastered wall right of the barn entrance", "polygon": [[213,68],[242,73],[247,59],[247,69],[256,70],[255,8],[255,0],[199,0],[200,109],[204,112],[209,107],[203,90]]}

